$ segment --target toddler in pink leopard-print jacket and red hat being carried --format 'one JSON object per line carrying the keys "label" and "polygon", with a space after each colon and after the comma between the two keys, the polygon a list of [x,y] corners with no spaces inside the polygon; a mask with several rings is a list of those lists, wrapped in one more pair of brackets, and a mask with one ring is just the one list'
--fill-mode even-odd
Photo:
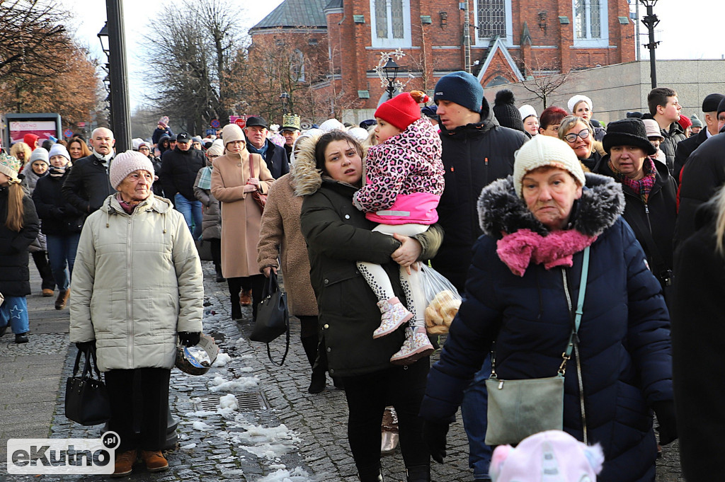
{"label": "toddler in pink leopard-print jacket and red hat being carried", "polygon": [[[365,186],[357,191],[353,203],[369,220],[380,223],[374,230],[389,236],[415,236],[438,220],[436,207],[444,186],[441,139],[431,122],[421,118],[418,106],[428,100],[421,91],[406,92],[384,102],[375,112],[379,144],[368,149]],[[409,322],[405,343],[390,361],[410,365],[431,354],[433,346],[423,317],[426,296],[418,272],[400,267],[400,281],[414,315],[394,296],[380,265],[358,262],[357,267],[378,296],[382,312],[373,338],[386,336]]]}

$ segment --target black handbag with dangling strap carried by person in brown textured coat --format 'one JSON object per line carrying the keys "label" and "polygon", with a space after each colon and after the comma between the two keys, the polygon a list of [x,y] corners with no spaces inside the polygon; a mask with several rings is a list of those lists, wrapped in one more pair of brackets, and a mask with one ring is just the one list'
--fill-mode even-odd
{"label": "black handbag with dangling strap carried by person in brown textured coat", "polygon": [[[270,341],[275,340],[282,333],[287,333],[286,349],[282,361],[277,363],[270,354]],[[270,270],[265,288],[262,290],[262,301],[257,305],[257,319],[254,320],[254,329],[249,336],[252,341],[261,341],[267,344],[267,355],[271,362],[282,366],[289,351],[289,312],[287,310],[287,294],[279,288],[277,275]]]}

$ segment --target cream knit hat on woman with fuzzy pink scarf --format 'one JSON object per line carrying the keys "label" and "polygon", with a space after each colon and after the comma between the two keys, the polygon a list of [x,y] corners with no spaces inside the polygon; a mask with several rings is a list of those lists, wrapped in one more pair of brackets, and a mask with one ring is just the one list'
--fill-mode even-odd
{"label": "cream knit hat on woman with fuzzy pink scarf", "polygon": [[531,141],[526,141],[526,144],[518,149],[513,162],[513,186],[519,197],[523,197],[521,194],[523,176],[543,166],[567,170],[581,186],[586,183],[581,162],[566,142],[551,136],[534,136]]}

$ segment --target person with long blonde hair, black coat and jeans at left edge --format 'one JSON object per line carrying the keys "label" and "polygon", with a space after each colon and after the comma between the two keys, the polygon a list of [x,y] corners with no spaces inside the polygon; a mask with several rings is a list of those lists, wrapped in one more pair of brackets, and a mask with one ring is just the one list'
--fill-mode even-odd
{"label": "person with long blonde hair, black coat and jeans at left edge", "polygon": [[0,152],[0,336],[11,325],[15,343],[28,343],[30,272],[28,246],[38,236],[33,201],[25,195],[17,173],[20,160]]}

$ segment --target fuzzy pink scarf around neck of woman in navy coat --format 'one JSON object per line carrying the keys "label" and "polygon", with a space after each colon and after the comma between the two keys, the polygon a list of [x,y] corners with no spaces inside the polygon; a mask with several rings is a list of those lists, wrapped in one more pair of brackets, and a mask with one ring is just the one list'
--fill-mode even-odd
{"label": "fuzzy pink scarf around neck of woman in navy coat", "polygon": [[571,266],[573,254],[596,240],[597,236],[586,236],[573,229],[552,231],[548,236],[521,229],[498,240],[496,252],[511,273],[523,276],[531,261],[543,264],[547,270]]}

